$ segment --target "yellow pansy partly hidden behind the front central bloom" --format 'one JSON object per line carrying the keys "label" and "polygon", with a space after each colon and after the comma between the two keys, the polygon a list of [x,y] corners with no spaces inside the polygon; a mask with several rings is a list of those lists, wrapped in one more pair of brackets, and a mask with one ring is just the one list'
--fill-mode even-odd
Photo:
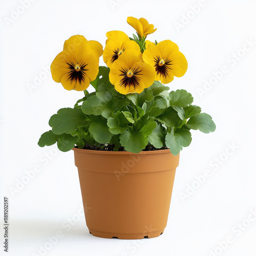
{"label": "yellow pansy partly hidden behind the front central bloom", "polygon": [[106,36],[108,37],[108,42],[103,51],[103,60],[109,68],[124,52],[130,54],[132,51],[134,55],[142,60],[139,45],[135,41],[130,40],[125,33],[122,31],[110,31],[106,33]]}

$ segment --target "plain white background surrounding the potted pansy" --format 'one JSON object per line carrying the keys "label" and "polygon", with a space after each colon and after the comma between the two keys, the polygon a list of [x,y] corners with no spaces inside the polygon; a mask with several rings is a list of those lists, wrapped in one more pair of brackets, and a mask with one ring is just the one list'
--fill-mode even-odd
{"label": "plain white background surrounding the potted pansy", "polygon": [[[0,4],[0,211],[2,223],[6,196],[10,205],[8,255],[254,256],[255,2],[24,2],[26,8],[22,1],[2,0]],[[199,4],[201,7],[193,8]],[[191,145],[181,152],[165,232],[140,241],[89,234],[84,216],[79,216],[82,200],[73,151],[62,153],[55,145],[37,145],[40,135],[50,128],[50,116],[60,108],[72,107],[83,96],[82,92],[64,90],[45,71],[63,42],[81,34],[104,45],[105,33],[110,30],[131,36],[134,30],[126,23],[127,16],[144,17],[155,25],[157,31],[148,39],[170,39],[178,44],[188,60],[188,71],[175,78],[170,89],[190,92],[194,103],[217,125],[212,134],[193,131]],[[222,69],[225,74],[220,73]],[[205,87],[207,91],[206,81],[212,83]],[[200,95],[199,89],[204,93]],[[33,168],[40,172],[28,180],[26,173]],[[198,186],[196,177],[205,170],[210,176],[201,177]],[[67,225],[69,220],[72,226]],[[0,254],[5,255],[2,227]],[[62,237],[50,244],[49,238],[56,233]],[[223,242],[227,237],[228,245]],[[42,247],[47,250],[40,251]]]}

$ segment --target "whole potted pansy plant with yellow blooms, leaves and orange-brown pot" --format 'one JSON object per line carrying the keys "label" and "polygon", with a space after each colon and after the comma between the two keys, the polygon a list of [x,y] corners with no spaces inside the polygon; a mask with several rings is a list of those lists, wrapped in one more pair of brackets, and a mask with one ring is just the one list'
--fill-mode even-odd
{"label": "whole potted pansy plant with yellow blooms, leaves and orange-brown pot", "polygon": [[[190,130],[214,132],[215,123],[185,90],[163,84],[187,70],[170,41],[151,42],[156,31],[144,18],[128,17],[137,31],[106,33],[106,45],[75,35],[52,62],[53,80],[83,91],[74,108],[60,109],[38,145],[74,150],[86,222],[98,237],[159,236],[167,223],[179,153]],[[107,67],[99,67],[99,57]],[[89,85],[95,91],[89,93]]]}

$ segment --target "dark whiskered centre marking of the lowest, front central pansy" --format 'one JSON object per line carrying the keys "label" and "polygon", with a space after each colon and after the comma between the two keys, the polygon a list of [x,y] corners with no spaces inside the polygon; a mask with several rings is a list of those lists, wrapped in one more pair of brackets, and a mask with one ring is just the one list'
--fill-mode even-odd
{"label": "dark whiskered centre marking of the lowest, front central pansy", "polygon": [[120,81],[120,84],[122,87],[126,88],[128,87],[134,87],[135,89],[140,86],[140,73],[142,70],[139,70],[139,68],[134,69],[122,69],[120,70],[121,74],[120,76],[123,76],[123,78]]}

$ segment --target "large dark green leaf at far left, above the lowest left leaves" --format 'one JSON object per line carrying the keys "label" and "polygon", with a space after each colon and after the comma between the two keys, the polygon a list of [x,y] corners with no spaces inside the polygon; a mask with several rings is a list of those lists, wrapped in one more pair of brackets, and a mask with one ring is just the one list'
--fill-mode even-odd
{"label": "large dark green leaf at far left, above the lowest left leaves", "polygon": [[53,133],[60,135],[62,133],[73,133],[78,125],[87,122],[88,117],[82,113],[81,109],[65,108],[60,109],[57,114],[50,118],[49,125]]}

